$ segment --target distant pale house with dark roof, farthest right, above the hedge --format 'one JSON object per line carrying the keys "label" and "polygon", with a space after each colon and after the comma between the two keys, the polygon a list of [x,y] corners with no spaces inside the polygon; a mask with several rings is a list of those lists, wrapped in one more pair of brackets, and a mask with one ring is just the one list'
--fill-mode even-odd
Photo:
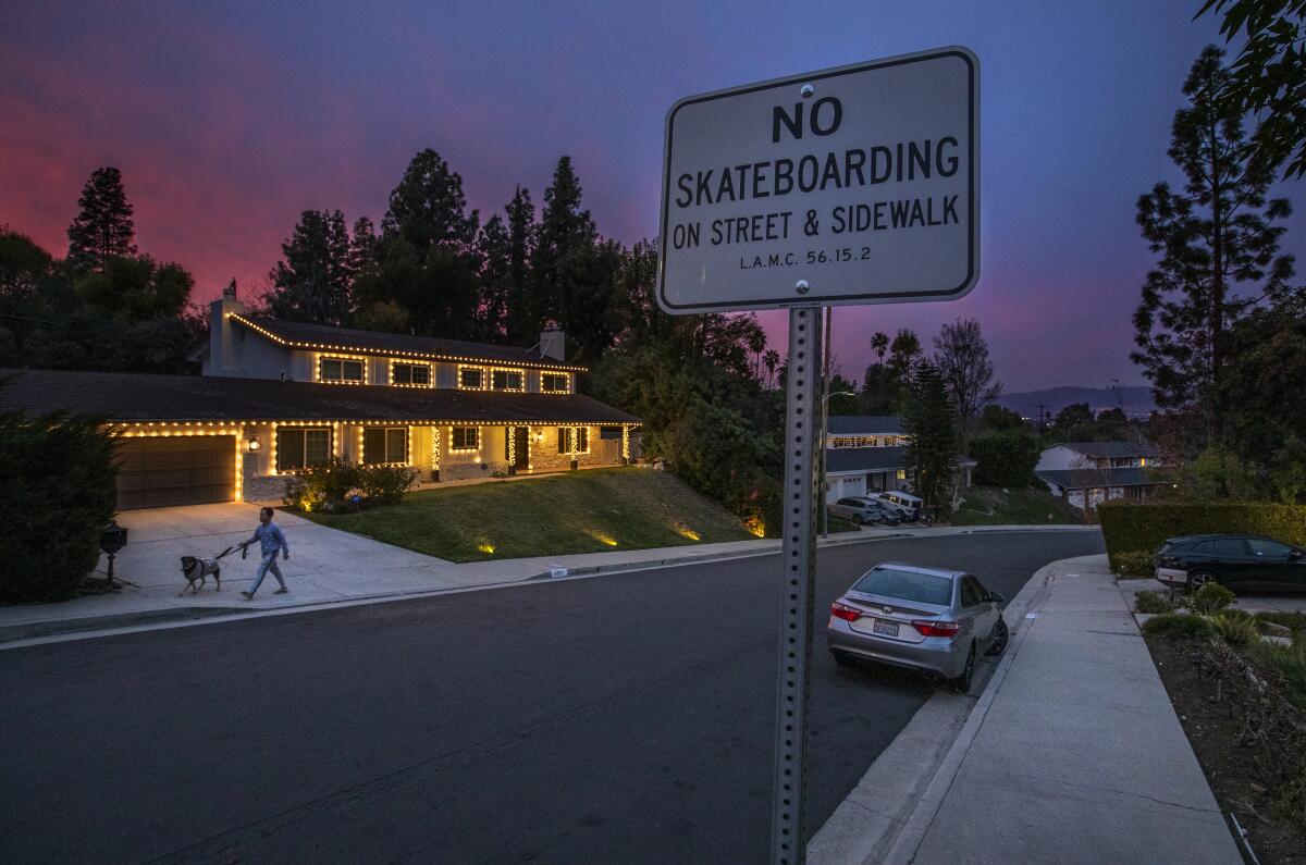
{"label": "distant pale house with dark roof, farthest right, above the hedge", "polygon": [[1072,442],[1043,448],[1034,477],[1072,507],[1091,510],[1104,500],[1148,498],[1165,483],[1151,469],[1165,465],[1149,442]]}

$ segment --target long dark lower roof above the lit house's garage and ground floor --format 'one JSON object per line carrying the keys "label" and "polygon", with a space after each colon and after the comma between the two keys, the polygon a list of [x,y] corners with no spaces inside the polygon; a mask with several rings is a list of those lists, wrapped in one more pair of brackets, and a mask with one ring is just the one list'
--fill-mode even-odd
{"label": "long dark lower roof above the lit house's garage and ground floor", "polygon": [[503,393],[135,372],[0,370],[0,410],[119,422],[639,423],[580,393]]}

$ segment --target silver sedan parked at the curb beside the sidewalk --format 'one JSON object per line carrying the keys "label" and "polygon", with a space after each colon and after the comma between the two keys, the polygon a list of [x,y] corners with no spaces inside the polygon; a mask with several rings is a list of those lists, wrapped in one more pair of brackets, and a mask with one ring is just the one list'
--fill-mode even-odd
{"label": "silver sedan parked at the curb beside the sidewalk", "polygon": [[1007,648],[1002,602],[964,571],[876,564],[831,605],[825,636],[838,664],[925,670],[965,693],[976,659]]}

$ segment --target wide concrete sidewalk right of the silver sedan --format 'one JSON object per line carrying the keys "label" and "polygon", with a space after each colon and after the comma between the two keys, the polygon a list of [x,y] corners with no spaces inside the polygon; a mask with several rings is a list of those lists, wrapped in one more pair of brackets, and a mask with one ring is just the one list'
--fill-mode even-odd
{"label": "wide concrete sidewalk right of the silver sedan", "polygon": [[1241,862],[1106,557],[1055,562],[1027,588],[1021,627],[923,792],[905,809],[893,791],[858,802],[895,828],[857,861]]}

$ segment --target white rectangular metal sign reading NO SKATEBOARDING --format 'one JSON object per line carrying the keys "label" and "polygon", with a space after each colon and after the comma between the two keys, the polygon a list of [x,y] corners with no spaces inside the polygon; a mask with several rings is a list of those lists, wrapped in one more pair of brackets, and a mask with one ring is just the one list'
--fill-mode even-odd
{"label": "white rectangular metal sign reading NO SKATEBOARDING", "polygon": [[980,276],[980,61],[948,47],[666,116],[670,314],[948,301]]}

